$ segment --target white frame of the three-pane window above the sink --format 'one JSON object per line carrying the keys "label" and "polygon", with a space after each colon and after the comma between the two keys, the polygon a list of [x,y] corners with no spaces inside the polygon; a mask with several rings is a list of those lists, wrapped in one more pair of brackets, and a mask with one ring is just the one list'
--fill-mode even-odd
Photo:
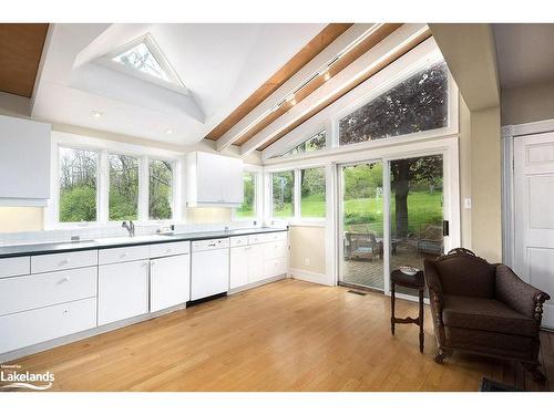
{"label": "white frame of the three-pane window above the sink", "polygon": [[[96,174],[96,220],[79,222],[60,221],[60,147],[71,149],[93,151],[98,153]],[[171,151],[144,147],[120,142],[111,142],[101,138],[81,136],[68,133],[52,132],[51,141],[51,179],[52,197],[44,211],[44,229],[74,229],[94,227],[119,227],[121,220],[110,220],[110,173],[109,154],[125,155],[138,159],[138,218],[134,222],[137,226],[170,225],[182,222],[183,200],[181,193],[182,184],[182,154]],[[172,164],[172,218],[148,218],[148,187],[150,187],[150,159],[171,162]]]}

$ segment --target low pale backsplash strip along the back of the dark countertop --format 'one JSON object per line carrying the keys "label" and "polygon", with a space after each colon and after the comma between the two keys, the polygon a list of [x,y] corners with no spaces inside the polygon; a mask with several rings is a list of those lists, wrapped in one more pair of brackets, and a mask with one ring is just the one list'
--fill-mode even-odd
{"label": "low pale backsplash strip along the back of the dark countertop", "polygon": [[[161,225],[136,226],[136,235],[153,235]],[[175,225],[175,232],[202,232],[228,229],[254,228],[254,221],[236,221],[224,224],[185,224]],[[86,227],[79,229],[40,230],[32,232],[0,232],[0,245],[25,245],[42,242],[71,241],[72,237],[81,240],[92,240],[98,238],[123,237],[127,231],[119,226]]]}

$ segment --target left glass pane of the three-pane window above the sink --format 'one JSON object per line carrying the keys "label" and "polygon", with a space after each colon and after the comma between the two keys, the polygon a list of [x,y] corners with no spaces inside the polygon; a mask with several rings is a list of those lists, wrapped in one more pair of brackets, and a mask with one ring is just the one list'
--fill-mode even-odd
{"label": "left glass pane of the three-pane window above the sink", "polygon": [[60,222],[96,221],[96,152],[60,147]]}

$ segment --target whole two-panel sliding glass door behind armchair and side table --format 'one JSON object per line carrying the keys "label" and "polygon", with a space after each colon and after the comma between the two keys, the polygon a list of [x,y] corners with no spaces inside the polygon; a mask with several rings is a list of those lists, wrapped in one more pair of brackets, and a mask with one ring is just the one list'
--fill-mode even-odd
{"label": "whole two-panel sliding glass door behind armchair and side table", "polygon": [[391,270],[443,253],[442,154],[340,165],[339,186],[341,283],[388,291]]}

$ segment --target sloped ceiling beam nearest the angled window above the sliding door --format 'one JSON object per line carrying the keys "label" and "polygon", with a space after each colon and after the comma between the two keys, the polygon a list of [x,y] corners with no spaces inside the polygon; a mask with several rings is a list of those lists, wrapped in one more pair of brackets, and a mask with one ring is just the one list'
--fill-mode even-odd
{"label": "sloped ceiling beam nearest the angled window above the sliding door", "polygon": [[289,106],[284,114],[260,128],[252,138],[240,145],[240,154],[247,155],[258,148],[266,148],[430,35],[427,24],[401,25],[306,98]]}

